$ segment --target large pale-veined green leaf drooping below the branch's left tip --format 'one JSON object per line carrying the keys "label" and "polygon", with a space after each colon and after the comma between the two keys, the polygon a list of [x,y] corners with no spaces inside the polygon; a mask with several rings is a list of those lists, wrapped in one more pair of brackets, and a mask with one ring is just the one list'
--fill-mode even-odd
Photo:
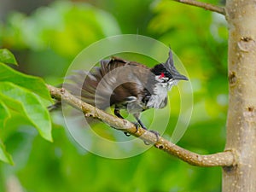
{"label": "large pale-veined green leaf drooping below the branch's left tip", "polygon": [[29,119],[44,139],[52,141],[49,111],[38,96],[16,84],[0,82],[0,100]]}

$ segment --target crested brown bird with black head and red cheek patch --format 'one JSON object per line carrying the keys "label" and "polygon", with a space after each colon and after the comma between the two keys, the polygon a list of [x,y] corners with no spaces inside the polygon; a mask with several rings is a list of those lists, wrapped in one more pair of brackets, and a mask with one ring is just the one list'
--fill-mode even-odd
{"label": "crested brown bird with black head and red cheek patch", "polygon": [[120,110],[124,109],[136,119],[137,127],[146,130],[141,113],[149,108],[165,108],[172,86],[179,80],[189,80],[174,67],[172,49],[165,63],[152,68],[113,56],[100,61],[100,67],[76,70],[67,79],[65,87],[74,96],[102,110],[113,107],[113,113],[121,119]]}

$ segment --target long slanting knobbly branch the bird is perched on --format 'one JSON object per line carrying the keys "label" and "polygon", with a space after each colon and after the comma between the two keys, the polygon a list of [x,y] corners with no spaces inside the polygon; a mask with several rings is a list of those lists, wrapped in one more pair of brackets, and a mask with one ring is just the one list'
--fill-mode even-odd
{"label": "long slanting knobbly branch the bird is perched on", "polygon": [[168,154],[177,156],[180,160],[188,162],[194,166],[235,166],[236,153],[232,150],[227,150],[217,154],[195,154],[184,148],[178,147],[177,145],[167,141],[163,137],[156,138],[155,134],[151,131],[144,130],[142,128],[135,127],[134,124],[125,120],[119,119],[111,114],[105,113],[104,111],[97,109],[90,104],[82,102],[77,97],[71,95],[67,90],[61,88],[55,88],[51,85],[47,85],[50,95],[62,102],[67,102],[73,108],[81,110],[86,117],[92,117],[95,119],[102,120],[111,127],[119,131],[125,131],[135,137],[139,137],[144,142],[154,144],[154,147],[166,151]]}

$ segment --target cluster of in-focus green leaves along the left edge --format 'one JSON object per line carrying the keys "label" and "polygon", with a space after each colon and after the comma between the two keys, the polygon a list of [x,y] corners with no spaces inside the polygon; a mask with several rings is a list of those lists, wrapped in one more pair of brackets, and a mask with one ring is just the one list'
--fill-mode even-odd
{"label": "cluster of in-focus green leaves along the left edge", "polygon": [[[15,57],[7,49],[0,49],[0,127],[3,129],[6,121],[19,114],[20,119],[26,119],[36,127],[42,137],[52,141],[49,112],[40,101],[42,96],[50,100],[42,79],[19,73],[6,66],[3,62],[17,65]],[[36,94],[38,94],[38,96]],[[13,164],[12,158],[6,152],[3,143],[0,145],[0,160]]]}

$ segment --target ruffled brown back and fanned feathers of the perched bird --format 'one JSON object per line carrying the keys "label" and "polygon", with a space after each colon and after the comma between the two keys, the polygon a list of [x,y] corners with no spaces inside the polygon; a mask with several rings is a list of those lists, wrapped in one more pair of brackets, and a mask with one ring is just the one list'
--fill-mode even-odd
{"label": "ruffled brown back and fanned feathers of the perched bird", "polygon": [[72,81],[67,84],[68,90],[81,96],[84,102],[102,109],[142,95],[148,81],[148,67],[117,57],[102,60],[100,64],[91,72],[76,71],[68,78]]}

